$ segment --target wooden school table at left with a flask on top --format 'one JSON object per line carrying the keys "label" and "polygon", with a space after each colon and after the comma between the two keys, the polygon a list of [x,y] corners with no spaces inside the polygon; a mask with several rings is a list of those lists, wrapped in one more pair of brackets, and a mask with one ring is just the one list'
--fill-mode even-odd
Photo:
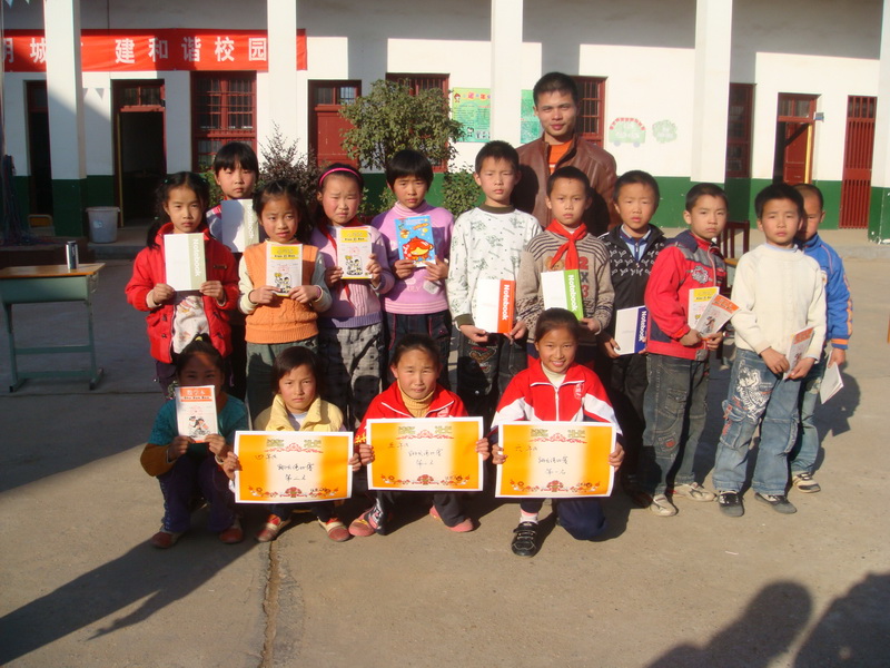
{"label": "wooden school table at left with a flask on top", "polygon": [[[92,335],[92,293],[99,282],[99,271],[105,264],[83,264],[77,269],[67,265],[41,265],[28,267],[7,267],[0,269],[0,302],[7,314],[9,335],[9,369],[12,376],[10,392],[21,387],[28,379],[39,377],[86,377],[93,390],[102,376],[96,366],[96,345]],[[89,342],[53,346],[21,347],[16,345],[12,327],[13,304],[44,304],[51,302],[83,302],[87,306],[87,327]],[[46,355],[53,353],[89,353],[90,367],[70,371],[23,371],[19,372],[18,355]]]}

